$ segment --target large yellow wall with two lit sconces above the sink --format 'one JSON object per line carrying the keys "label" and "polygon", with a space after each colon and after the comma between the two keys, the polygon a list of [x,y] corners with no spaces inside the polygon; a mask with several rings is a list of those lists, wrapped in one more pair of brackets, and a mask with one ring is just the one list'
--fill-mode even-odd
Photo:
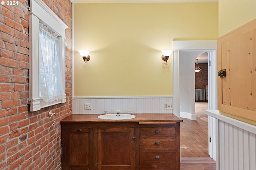
{"label": "large yellow wall with two lit sconces above the sink", "polygon": [[160,50],[217,38],[218,3],[74,3],[74,96],[171,96]]}

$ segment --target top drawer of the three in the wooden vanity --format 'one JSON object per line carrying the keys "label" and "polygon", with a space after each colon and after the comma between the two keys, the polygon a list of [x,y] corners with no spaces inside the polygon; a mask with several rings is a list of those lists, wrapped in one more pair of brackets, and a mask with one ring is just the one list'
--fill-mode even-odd
{"label": "top drawer of the three in the wooden vanity", "polygon": [[146,138],[176,137],[176,129],[175,127],[141,127],[139,135]]}

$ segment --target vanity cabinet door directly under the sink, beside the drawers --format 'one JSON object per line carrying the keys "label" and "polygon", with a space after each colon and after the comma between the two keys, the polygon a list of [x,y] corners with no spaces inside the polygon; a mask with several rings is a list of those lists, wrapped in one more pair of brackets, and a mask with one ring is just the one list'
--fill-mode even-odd
{"label": "vanity cabinet door directly under the sink, beside the drawers", "polygon": [[98,170],[134,170],[134,128],[100,128],[98,132]]}

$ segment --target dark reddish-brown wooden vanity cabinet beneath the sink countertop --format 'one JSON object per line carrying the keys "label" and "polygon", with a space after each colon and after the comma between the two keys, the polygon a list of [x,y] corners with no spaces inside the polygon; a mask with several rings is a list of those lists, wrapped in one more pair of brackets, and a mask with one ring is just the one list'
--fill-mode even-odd
{"label": "dark reddish-brown wooden vanity cabinet beneath the sink countertop", "polygon": [[62,170],[180,169],[180,119],[175,122],[70,120],[61,121]]}

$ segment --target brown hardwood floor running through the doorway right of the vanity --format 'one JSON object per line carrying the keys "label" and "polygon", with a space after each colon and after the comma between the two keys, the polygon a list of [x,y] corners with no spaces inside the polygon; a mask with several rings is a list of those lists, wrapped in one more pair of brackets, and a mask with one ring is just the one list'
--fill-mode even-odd
{"label": "brown hardwood floor running through the doorway right of the vanity", "polygon": [[215,170],[216,162],[208,155],[207,102],[196,102],[196,120],[180,123],[181,170]]}

